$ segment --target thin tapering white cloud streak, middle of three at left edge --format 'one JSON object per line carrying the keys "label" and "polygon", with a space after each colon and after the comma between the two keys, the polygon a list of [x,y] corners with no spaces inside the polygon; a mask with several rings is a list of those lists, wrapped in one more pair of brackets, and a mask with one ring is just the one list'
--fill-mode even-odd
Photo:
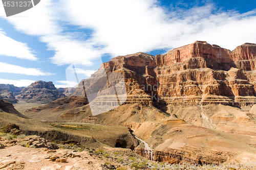
{"label": "thin tapering white cloud streak, middle of three at left edge", "polygon": [[41,71],[39,68],[25,68],[17,65],[0,62],[0,72],[28,75],[28,76],[51,76],[49,72]]}

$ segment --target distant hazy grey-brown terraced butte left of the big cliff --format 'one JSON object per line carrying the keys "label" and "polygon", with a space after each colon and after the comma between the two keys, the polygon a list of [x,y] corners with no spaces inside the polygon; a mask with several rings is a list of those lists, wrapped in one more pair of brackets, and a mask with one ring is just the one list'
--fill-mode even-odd
{"label": "distant hazy grey-brown terraced butte left of the big cliff", "polygon": [[65,96],[52,82],[37,81],[24,88],[16,99],[31,103],[50,103]]}

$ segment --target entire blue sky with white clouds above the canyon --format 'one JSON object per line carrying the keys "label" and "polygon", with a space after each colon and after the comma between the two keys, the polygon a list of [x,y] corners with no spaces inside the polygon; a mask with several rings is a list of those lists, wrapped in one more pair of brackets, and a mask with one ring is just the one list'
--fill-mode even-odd
{"label": "entire blue sky with white clouds above the canyon", "polygon": [[[76,85],[119,55],[163,54],[204,40],[256,43],[256,1],[41,0],[6,17],[0,5],[0,84]],[[73,65],[72,65],[73,64]]]}

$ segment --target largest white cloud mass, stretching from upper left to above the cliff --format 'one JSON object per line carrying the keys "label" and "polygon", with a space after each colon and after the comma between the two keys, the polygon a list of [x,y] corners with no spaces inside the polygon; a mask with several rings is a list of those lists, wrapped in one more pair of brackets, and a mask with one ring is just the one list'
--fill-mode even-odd
{"label": "largest white cloud mass, stretching from upper left to above the cliff", "polygon": [[[216,11],[214,4],[167,11],[156,0],[45,0],[7,20],[18,31],[39,36],[55,51],[57,65],[92,65],[99,54],[118,55],[172,49],[195,40],[233,50],[245,42],[256,43],[256,11]],[[81,40],[69,26],[93,30]]]}

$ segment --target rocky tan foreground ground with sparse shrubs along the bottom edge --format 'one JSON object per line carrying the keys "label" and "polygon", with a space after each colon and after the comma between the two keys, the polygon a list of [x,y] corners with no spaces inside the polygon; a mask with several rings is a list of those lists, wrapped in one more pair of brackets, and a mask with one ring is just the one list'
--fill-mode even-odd
{"label": "rocky tan foreground ground with sparse shrubs along the bottom edge", "polygon": [[[65,142],[62,142],[62,144],[51,143],[36,135],[15,136],[3,133],[0,135],[0,169],[130,170],[152,169],[153,166],[164,167],[164,163],[146,160],[127,149],[104,147],[99,150],[91,150],[78,143],[72,143],[72,141],[69,141],[69,144],[67,142],[66,144],[64,144]],[[175,165],[178,166],[178,164],[173,164],[173,166]],[[174,168],[167,167],[154,169]],[[179,169],[195,168],[182,166]],[[202,165],[199,169],[209,168],[203,167]],[[223,167],[221,169],[230,168]]]}

